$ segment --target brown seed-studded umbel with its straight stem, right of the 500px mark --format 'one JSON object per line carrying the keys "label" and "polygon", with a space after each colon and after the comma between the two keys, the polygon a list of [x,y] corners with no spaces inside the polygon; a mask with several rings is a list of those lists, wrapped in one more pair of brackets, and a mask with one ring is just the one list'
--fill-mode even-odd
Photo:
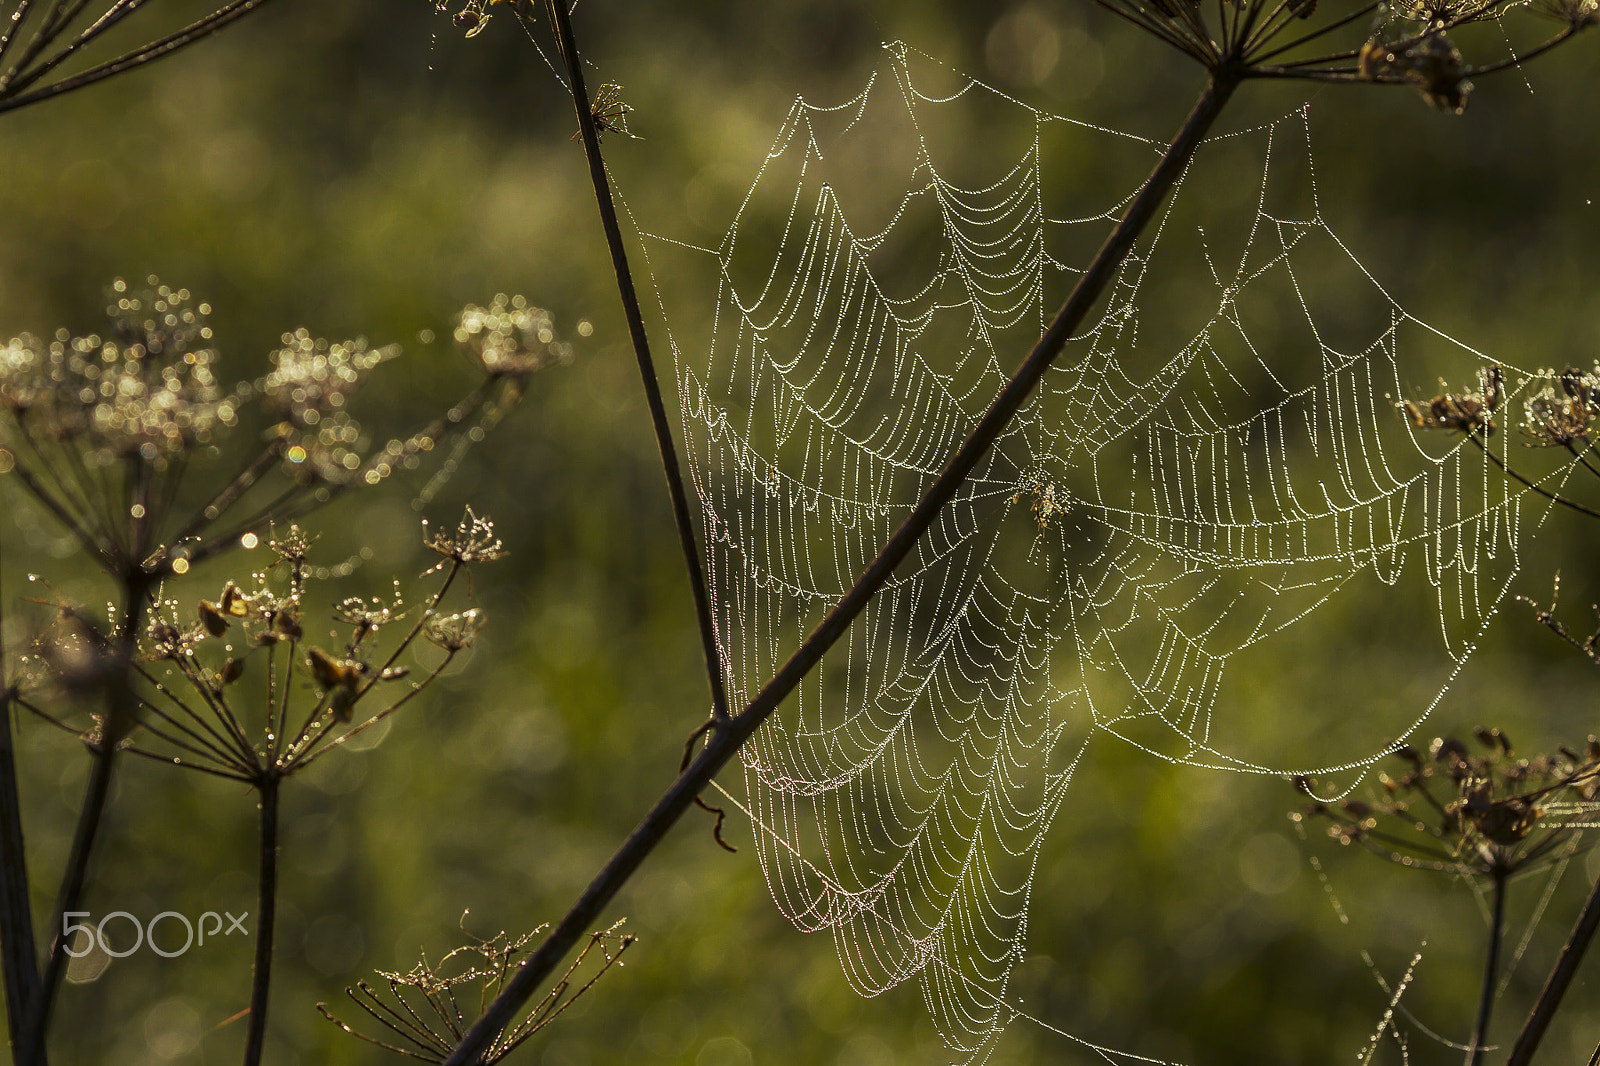
{"label": "brown seed-studded umbel with its straight stem, right of the 500px mark", "polygon": [[[434,536],[427,546],[446,557],[424,575],[438,576],[414,610],[406,608],[395,581],[389,599],[346,597],[328,618],[318,618],[312,541],[291,527],[270,541],[272,563],[248,579],[226,581],[214,600],[184,600],[163,591],[138,642],[131,674],[139,725],[118,747],[243,781],[261,802],[246,1063],[259,1061],[266,1034],[283,781],[413,703],[483,627],[478,608],[446,613],[443,600],[459,587],[458,578],[469,565],[504,555],[493,523],[467,512],[454,538]],[[78,690],[86,687],[85,679],[122,683],[115,669],[101,666],[115,634],[101,634],[80,611],[61,615],[62,624],[38,642],[34,677]],[[330,618],[339,631],[330,629],[318,640],[314,634]],[[398,640],[386,647],[384,639],[395,632]],[[427,666],[405,661],[419,642],[438,648]],[[91,746],[106,743],[102,715],[80,728],[53,714],[37,691],[19,691],[14,701]]]}

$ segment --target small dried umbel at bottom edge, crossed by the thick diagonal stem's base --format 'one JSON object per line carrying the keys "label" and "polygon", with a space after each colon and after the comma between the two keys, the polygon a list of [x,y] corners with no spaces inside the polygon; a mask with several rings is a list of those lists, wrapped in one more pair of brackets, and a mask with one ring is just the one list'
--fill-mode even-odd
{"label": "small dried umbel at bottom edge, crossed by the thick diagonal stem's base", "polygon": [[[525,1018],[498,1032],[478,1061],[486,1064],[506,1058],[578,1002],[611,967],[626,965],[622,954],[638,938],[619,933],[621,927],[622,922],[616,922],[606,930],[590,933],[589,943],[578,952],[578,957],[544,999],[538,1000]],[[506,978],[530,954],[528,944],[547,928],[547,925],[541,925],[515,940],[507,938],[506,933],[496,933],[488,940],[474,938],[474,943],[456,948],[437,965],[422,956],[421,962],[408,973],[379,970],[378,976],[389,986],[387,996],[366,981],[344,989],[350,1002],[389,1029],[392,1037],[379,1039],[357,1031],[339,1021],[326,1004],[317,1004],[317,1010],[322,1012],[323,1018],[366,1044],[424,1063],[443,1063],[467,1028],[483,1013],[483,1007],[499,994]],[[597,964],[586,965],[590,956],[597,957]],[[579,984],[579,981],[582,983]],[[462,1010],[462,999],[466,999],[466,1010]],[[398,1044],[389,1044],[392,1039],[398,1039]]]}

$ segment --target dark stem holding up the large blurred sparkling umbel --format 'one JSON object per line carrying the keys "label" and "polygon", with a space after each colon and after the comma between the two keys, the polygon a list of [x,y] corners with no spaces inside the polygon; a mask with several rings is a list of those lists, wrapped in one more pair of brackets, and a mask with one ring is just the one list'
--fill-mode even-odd
{"label": "dark stem holding up the large blurred sparkling umbel", "polygon": [[56,908],[51,912],[46,933],[50,936],[50,957],[45,960],[45,973],[40,981],[38,999],[29,1012],[29,1023],[22,1028],[19,1042],[22,1053],[18,1056],[19,1066],[34,1066],[45,1061],[45,1034],[50,1029],[50,1012],[61,991],[61,980],[67,973],[66,928],[67,912],[77,912],[83,901],[83,887],[88,882],[90,853],[94,850],[94,839],[99,836],[101,815],[106,812],[106,800],[110,795],[110,779],[117,765],[117,747],[128,735],[138,719],[138,696],[133,691],[133,659],[139,647],[139,627],[144,621],[144,608],[149,603],[149,576],[130,565],[122,579],[123,610],[122,629],[117,634],[115,664],[120,677],[107,685],[106,722],[101,728],[99,743],[91,749],[88,786],[83,789],[83,805],[78,808],[78,824],[72,832],[72,852],[67,855],[67,866],[61,872],[61,888],[56,895]]}

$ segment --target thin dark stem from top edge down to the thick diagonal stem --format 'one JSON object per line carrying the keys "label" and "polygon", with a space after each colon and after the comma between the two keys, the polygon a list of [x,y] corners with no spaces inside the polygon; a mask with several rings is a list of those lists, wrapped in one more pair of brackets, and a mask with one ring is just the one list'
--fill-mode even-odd
{"label": "thin dark stem from top edge down to the thick diagonal stem", "polygon": [[566,14],[562,0],[546,0],[550,22],[555,26],[557,40],[562,46],[562,59],[566,62],[566,80],[573,91],[573,104],[578,109],[578,130],[584,138],[584,154],[589,157],[589,179],[595,187],[595,203],[600,208],[600,222],[605,226],[605,242],[611,250],[611,266],[616,271],[616,291],[622,298],[622,312],[627,315],[627,331],[634,339],[634,357],[638,360],[638,376],[645,386],[645,400],[650,407],[650,423],[656,431],[656,447],[661,450],[661,469],[667,479],[667,491],[672,496],[672,519],[678,527],[678,546],[683,551],[683,568],[690,576],[690,589],[694,594],[694,616],[699,621],[701,651],[706,656],[706,675],[710,682],[712,719],[718,723],[728,722],[728,696],[722,680],[722,655],[717,651],[717,627],[710,613],[710,592],[706,587],[706,571],[701,567],[699,541],[694,536],[694,523],[690,519],[688,491],[683,488],[683,471],[678,467],[677,447],[672,442],[672,426],[667,423],[667,408],[661,400],[661,381],[656,378],[656,363],[650,357],[650,338],[645,335],[645,317],[638,309],[638,295],[634,290],[634,274],[627,266],[627,250],[622,246],[622,229],[618,224],[616,205],[611,200],[611,182],[605,173],[605,160],[600,155],[600,131],[589,107],[589,90],[584,88],[582,61],[578,56],[578,43],[573,38],[573,22]]}

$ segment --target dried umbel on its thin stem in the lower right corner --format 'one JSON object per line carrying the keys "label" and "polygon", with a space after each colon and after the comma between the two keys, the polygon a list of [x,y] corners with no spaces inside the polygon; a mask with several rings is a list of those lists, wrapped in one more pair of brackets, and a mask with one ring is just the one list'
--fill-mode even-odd
{"label": "dried umbel on its thin stem in the lower right corner", "polygon": [[[1486,1050],[1509,882],[1571,856],[1581,831],[1600,813],[1600,739],[1590,736],[1582,751],[1563,744],[1533,759],[1518,759],[1496,728],[1477,728],[1474,739],[1477,747],[1437,738],[1427,755],[1403,744],[1394,755],[1405,768],[1379,775],[1381,795],[1318,800],[1291,815],[1294,821],[1325,820],[1339,844],[1365,847],[1398,866],[1488,884],[1490,940],[1469,1063]],[[1298,778],[1296,786],[1317,794],[1309,778]]]}

